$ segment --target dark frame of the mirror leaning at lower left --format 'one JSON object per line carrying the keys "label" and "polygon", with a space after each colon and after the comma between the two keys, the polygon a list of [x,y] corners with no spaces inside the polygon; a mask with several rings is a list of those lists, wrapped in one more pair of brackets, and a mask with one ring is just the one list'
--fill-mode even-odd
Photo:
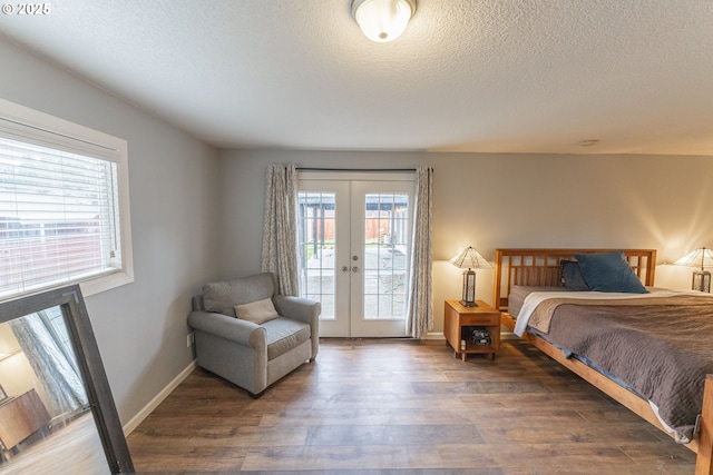
{"label": "dark frame of the mirror leaning at lower left", "polygon": [[78,285],[0,303],[0,324],[59,306],[71,340],[91,414],[113,474],[134,473],[89,314]]}

